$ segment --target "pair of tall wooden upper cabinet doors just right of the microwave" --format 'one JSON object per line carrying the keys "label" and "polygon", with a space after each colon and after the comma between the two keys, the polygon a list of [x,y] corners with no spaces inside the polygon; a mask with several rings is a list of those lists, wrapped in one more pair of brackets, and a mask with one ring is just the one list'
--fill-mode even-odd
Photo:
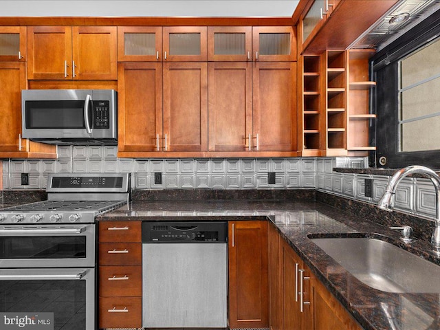
{"label": "pair of tall wooden upper cabinet doors just right of the microwave", "polygon": [[120,63],[119,76],[120,157],[208,149],[207,63]]}

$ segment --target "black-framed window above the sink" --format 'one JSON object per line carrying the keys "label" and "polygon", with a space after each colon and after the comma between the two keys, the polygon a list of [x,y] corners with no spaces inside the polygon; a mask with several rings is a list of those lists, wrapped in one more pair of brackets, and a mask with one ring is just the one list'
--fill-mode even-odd
{"label": "black-framed window above the sink", "polygon": [[370,164],[440,168],[440,17],[428,17],[372,59],[377,152]]}

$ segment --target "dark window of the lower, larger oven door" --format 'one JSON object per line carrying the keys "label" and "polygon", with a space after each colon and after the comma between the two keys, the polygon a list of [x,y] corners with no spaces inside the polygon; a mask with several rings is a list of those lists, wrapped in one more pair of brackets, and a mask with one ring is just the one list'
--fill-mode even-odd
{"label": "dark window of the lower, larger oven door", "polygon": [[86,281],[0,281],[0,311],[54,313],[54,329],[86,329]]}

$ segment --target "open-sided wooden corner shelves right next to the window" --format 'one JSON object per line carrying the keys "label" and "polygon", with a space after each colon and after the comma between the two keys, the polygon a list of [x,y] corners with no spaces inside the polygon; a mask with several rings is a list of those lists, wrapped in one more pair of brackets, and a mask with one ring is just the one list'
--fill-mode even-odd
{"label": "open-sided wooden corner shelves right next to the window", "polygon": [[349,77],[347,151],[349,155],[366,156],[375,151],[369,144],[370,127],[376,115],[370,113],[370,94],[376,83],[369,80],[369,58],[375,50],[347,51],[347,76]]}

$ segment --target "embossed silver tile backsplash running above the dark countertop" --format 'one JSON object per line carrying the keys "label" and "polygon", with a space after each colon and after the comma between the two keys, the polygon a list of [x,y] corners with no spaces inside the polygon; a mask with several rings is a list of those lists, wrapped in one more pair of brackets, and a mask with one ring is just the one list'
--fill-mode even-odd
{"label": "embossed silver tile backsplash running above the dark countertop", "polygon": [[[116,146],[58,146],[58,159],[3,160],[4,190],[45,189],[49,173],[132,173],[132,188],[145,189],[296,189],[318,188],[351,199],[377,203],[390,177],[337,173],[335,167],[364,168],[364,157],[295,157],[228,159],[125,159]],[[154,173],[162,172],[162,184]],[[267,173],[276,173],[276,184]],[[30,185],[21,186],[21,173]],[[364,180],[373,179],[373,197]],[[395,209],[422,217],[435,215],[435,191],[429,179],[406,178],[395,195]]]}

